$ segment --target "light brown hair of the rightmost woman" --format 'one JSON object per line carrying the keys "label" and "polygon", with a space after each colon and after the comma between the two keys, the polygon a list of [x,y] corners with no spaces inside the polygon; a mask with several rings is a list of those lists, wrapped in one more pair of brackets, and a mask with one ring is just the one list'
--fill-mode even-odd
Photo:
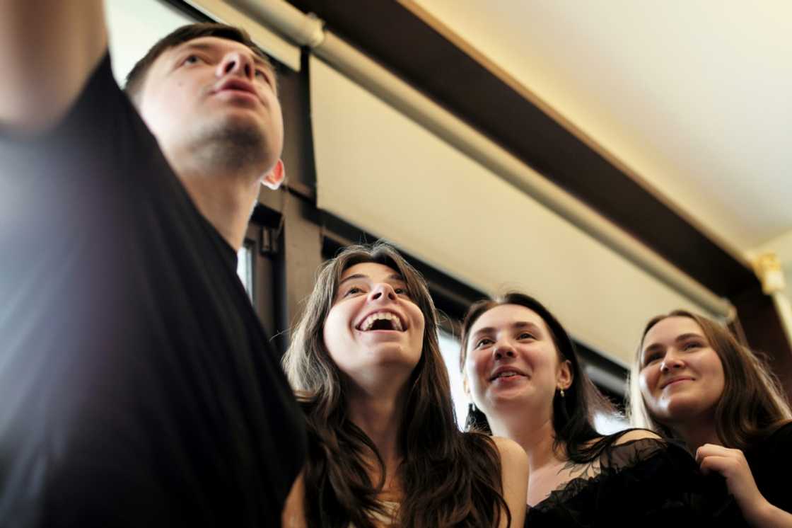
{"label": "light brown hair of the rightmost woman", "polygon": [[704,316],[686,310],[653,317],[646,323],[641,343],[630,369],[630,421],[647,427],[665,438],[680,439],[674,431],[651,415],[638,386],[643,341],[654,325],[668,317],[687,317],[698,323],[707,342],[721,358],[723,394],[715,405],[715,432],[726,447],[746,450],[753,442],[771,434],[792,419],[790,406],[778,379],[767,368],[763,357],[742,345],[725,327]]}

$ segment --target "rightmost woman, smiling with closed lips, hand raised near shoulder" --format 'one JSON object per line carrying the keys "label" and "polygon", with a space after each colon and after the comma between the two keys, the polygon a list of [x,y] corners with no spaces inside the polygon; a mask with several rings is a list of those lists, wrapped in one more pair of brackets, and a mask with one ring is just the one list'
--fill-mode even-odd
{"label": "rightmost woman, smiling with closed lips, hand raised near shoulder", "polygon": [[725,477],[750,526],[792,526],[792,412],[756,354],[710,319],[650,320],[630,377],[635,423],[683,442]]}

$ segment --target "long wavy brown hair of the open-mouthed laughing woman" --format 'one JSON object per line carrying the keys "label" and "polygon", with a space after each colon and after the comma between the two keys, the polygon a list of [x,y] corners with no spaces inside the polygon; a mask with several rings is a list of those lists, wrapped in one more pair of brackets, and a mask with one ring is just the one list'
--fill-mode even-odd
{"label": "long wavy brown hair of the open-mouthed laughing woman", "polygon": [[[306,515],[309,526],[373,527],[372,515],[385,513],[377,496],[384,485],[382,457],[371,439],[347,415],[345,377],[322,339],[341,274],[361,262],[398,271],[410,298],[421,308],[425,330],[421,359],[409,379],[399,442],[404,456],[398,471],[403,498],[398,526],[498,526],[502,496],[501,458],[485,434],[457,427],[451,387],[437,339],[436,309],[425,281],[393,247],[353,246],[326,262],[284,355],[287,377],[306,413],[309,453]],[[372,482],[367,467],[379,464]]]}

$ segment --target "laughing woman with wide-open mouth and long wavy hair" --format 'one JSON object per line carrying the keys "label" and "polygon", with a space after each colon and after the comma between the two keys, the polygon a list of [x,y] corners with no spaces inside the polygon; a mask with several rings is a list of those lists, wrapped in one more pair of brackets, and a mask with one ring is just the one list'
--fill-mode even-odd
{"label": "laughing woman with wide-open mouth and long wavy hair", "polygon": [[459,431],[425,282],[393,248],[326,262],[284,356],[309,435],[308,526],[520,526],[525,453]]}

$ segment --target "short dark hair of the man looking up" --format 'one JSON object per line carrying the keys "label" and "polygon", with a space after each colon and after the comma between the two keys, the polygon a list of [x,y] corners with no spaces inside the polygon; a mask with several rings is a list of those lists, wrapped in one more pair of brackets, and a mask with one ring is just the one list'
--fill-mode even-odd
{"label": "short dark hair of the man looking up", "polygon": [[[158,59],[159,55],[162,55],[162,53],[169,48],[175,48],[188,40],[195,40],[204,36],[216,36],[221,39],[234,40],[234,42],[245,44],[248,48],[252,49],[256,55],[260,56],[267,63],[270,63],[268,56],[265,55],[256,44],[253,44],[253,40],[250,40],[250,36],[244,29],[235,28],[232,25],[210,22],[183,25],[181,28],[175,29],[173,33],[162,37],[157,44],[151,47],[143,59],[140,59],[135,64],[135,67],[133,67],[129,75],[127,75],[124,91],[135,101],[139,96],[140,89],[143,87],[143,82],[146,80],[149,68],[154,64],[154,61]],[[275,71],[275,68],[272,68],[272,71]]]}

